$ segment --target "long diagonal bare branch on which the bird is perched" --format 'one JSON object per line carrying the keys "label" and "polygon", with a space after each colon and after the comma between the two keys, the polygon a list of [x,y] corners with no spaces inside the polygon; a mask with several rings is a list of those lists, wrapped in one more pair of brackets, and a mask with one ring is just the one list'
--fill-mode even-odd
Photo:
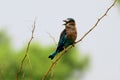
{"label": "long diagonal bare branch on which the bird is perched", "polygon": [[[95,24],[94,24],[78,41],[76,41],[73,45],[81,42],[91,31],[93,31],[93,29],[98,25],[98,23],[107,15],[107,13],[110,11],[110,9],[115,5],[116,1],[117,1],[117,0],[115,0],[115,1],[112,3],[112,5],[105,11],[105,13],[104,13],[100,18],[98,18],[98,20],[95,22]],[[46,74],[43,76],[42,80],[46,80],[48,74],[49,74],[50,71],[55,67],[55,65],[56,65],[57,62],[60,60],[60,58],[66,53],[67,50],[69,50],[69,49],[72,48],[72,47],[73,47],[73,46],[70,45],[70,46],[67,47],[65,50],[63,50],[63,51],[61,52],[61,55],[58,56],[53,63],[51,63],[48,71],[47,71]]]}

